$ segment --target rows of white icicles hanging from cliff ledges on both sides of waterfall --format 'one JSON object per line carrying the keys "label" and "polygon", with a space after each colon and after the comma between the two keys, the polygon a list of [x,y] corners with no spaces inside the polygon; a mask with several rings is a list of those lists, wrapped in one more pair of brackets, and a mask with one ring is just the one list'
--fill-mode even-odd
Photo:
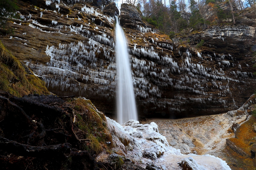
{"label": "rows of white icicles hanging from cliff ledges on both sides of waterfall", "polygon": [[[78,1],[84,0],[69,0],[74,3]],[[54,11],[61,8],[60,0],[48,0],[45,3]],[[63,19],[68,17],[72,23],[70,25],[63,25],[59,17],[51,18],[50,22],[45,24],[36,18],[48,17],[49,12],[54,11],[40,9],[41,13],[38,12],[38,15],[19,13],[20,19],[13,23],[13,27],[20,28],[20,25],[26,22],[29,23],[29,30],[42,32],[42,35],[63,36],[75,40],[69,43],[57,39],[49,41],[48,46],[45,46],[49,61],[37,63],[26,60],[27,66],[43,77],[50,89],[89,94],[113,103],[117,81],[112,28],[103,26],[96,20],[101,19],[112,24],[114,18],[104,15],[101,9],[90,5],[83,5],[76,10],[90,15],[91,19],[88,19],[88,22],[79,20],[81,24],[75,24],[77,19],[67,14]],[[188,104],[204,105],[204,112],[237,108],[239,101],[233,97],[236,95],[235,89],[246,92],[248,82],[254,79],[253,68],[250,66],[254,63],[239,62],[240,57],[237,55],[220,54],[215,49],[213,53],[195,49],[178,50],[173,48],[170,40],[164,39],[155,30],[142,26],[137,26],[136,29],[137,31],[128,33],[127,37],[135,41],[130,45],[128,52],[138,106],[147,107],[148,110],[163,109],[175,113],[186,111]],[[9,38],[15,43],[24,44],[24,48],[30,48],[32,53],[39,53],[39,50],[32,48],[30,33],[26,32],[22,32],[23,38]],[[77,37],[82,37],[83,40],[76,39]],[[222,37],[218,38],[223,41]],[[172,50],[173,54],[177,52],[181,58],[174,57]],[[165,96],[166,90],[172,91],[171,96]]]}

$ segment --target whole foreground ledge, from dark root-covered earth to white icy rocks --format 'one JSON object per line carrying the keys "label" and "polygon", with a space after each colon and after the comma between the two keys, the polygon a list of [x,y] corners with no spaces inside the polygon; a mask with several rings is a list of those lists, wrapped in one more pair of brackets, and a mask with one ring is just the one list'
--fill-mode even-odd
{"label": "whole foreground ledge, from dark root-covered earth to white icy rocks", "polygon": [[0,92],[0,166],[3,169],[228,169],[212,155],[169,146],[158,125],[105,117],[74,96]]}

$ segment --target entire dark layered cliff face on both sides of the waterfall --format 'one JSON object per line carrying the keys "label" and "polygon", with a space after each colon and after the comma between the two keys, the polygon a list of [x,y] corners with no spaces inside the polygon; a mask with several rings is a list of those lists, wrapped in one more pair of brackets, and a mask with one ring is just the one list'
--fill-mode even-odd
{"label": "entire dark layered cliff face on both sides of the waterfall", "polygon": [[[14,35],[1,36],[3,44],[42,76],[51,92],[85,96],[113,113],[116,42],[109,15],[116,12],[114,6],[104,10],[108,2],[98,8],[85,1],[18,3],[21,20],[11,24]],[[224,113],[254,92],[254,63],[247,46],[255,38],[255,27],[215,26],[172,41],[129,5],[121,6],[120,24],[128,39],[140,116]],[[196,48],[201,39],[204,45]]]}

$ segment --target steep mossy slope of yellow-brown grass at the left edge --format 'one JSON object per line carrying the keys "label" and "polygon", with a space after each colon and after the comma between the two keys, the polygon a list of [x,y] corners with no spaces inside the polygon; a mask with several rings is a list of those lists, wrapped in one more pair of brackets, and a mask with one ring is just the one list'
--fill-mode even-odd
{"label": "steep mossy slope of yellow-brown grass at the left edge", "polygon": [[0,90],[21,97],[30,93],[49,94],[45,82],[22,65],[0,41]]}

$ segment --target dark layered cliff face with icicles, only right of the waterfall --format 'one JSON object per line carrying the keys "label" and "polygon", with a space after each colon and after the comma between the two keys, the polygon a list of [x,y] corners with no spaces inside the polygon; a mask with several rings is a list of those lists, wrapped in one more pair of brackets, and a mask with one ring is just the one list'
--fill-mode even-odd
{"label": "dark layered cliff face with icicles, only right of the waterfall", "polygon": [[[126,11],[121,7],[124,26]],[[172,118],[224,113],[241,106],[253,93],[254,62],[248,46],[255,39],[255,27],[213,26],[173,42],[150,26],[129,28],[125,31],[137,96],[147,115],[152,110]],[[204,45],[197,48],[202,39]]]}

